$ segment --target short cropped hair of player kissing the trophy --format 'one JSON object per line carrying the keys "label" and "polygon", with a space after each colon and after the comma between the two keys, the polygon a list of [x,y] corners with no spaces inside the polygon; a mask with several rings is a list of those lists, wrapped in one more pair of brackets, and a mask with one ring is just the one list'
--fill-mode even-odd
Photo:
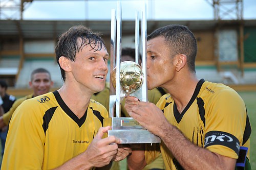
{"label": "short cropped hair of player kissing the trophy", "polygon": [[179,54],[186,55],[189,70],[196,72],[197,40],[195,35],[186,26],[168,25],[153,31],[147,36],[147,41],[160,36],[164,37],[169,46],[170,57]]}

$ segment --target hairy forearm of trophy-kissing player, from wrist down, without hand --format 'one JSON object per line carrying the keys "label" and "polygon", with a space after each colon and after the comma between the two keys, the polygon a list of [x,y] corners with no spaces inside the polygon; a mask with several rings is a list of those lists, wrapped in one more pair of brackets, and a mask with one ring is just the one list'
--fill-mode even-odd
{"label": "hairy forearm of trophy-kissing player, from wrist down, without hand", "polygon": [[234,159],[198,147],[170,124],[163,127],[160,137],[184,169],[234,169]]}

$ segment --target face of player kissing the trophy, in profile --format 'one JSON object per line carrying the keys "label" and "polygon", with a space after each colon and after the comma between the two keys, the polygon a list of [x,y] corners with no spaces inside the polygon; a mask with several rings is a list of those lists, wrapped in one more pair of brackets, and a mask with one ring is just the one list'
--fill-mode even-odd
{"label": "face of player kissing the trophy, in profile", "polygon": [[170,49],[159,36],[147,41],[147,87],[165,87],[175,76]]}

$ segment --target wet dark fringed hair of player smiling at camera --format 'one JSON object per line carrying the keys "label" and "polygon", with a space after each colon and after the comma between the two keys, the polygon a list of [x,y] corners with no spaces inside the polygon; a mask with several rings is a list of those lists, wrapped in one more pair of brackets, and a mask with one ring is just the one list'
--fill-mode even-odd
{"label": "wet dark fringed hair of player smiling at camera", "polygon": [[[55,47],[58,65],[61,56],[75,61],[76,54],[81,52],[82,48],[86,45],[90,45],[94,51],[100,51],[102,48],[106,49],[105,43],[99,36],[99,33],[93,33],[87,27],[73,26],[67,32],[61,34]],[[60,71],[62,80],[65,81],[65,70],[60,67]]]}

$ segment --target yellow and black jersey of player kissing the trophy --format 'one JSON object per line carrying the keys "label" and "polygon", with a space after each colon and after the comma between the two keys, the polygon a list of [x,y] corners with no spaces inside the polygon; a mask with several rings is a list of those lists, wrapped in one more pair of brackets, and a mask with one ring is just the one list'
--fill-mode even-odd
{"label": "yellow and black jersey of player kissing the trophy", "polygon": [[[246,107],[238,93],[228,86],[201,79],[182,113],[170,94],[162,96],[157,106],[170,124],[199,147],[234,159],[242,156],[240,148],[246,147],[248,152],[244,159],[246,155],[249,160],[251,127]],[[148,145],[147,163],[159,154],[149,150]],[[166,169],[182,169],[163,142],[160,150]]]}

